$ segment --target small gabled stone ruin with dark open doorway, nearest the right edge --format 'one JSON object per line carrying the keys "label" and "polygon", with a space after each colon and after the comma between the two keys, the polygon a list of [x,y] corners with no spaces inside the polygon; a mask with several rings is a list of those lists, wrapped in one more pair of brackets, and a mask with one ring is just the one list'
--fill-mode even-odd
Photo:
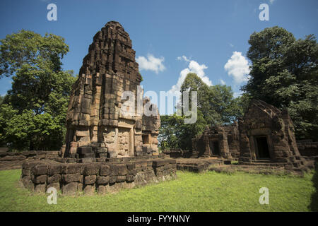
{"label": "small gabled stone ruin with dark open doorway, nearest the right edge", "polygon": [[239,120],[239,130],[241,163],[256,160],[293,163],[300,160],[295,129],[287,111],[261,100],[252,100],[244,118]]}

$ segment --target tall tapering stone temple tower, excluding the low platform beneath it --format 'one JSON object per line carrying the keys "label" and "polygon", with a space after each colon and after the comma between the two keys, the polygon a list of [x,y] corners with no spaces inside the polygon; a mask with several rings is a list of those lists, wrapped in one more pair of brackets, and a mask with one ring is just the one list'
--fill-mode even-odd
{"label": "tall tapering stone temple tower, excluding the low platform beneath it", "polygon": [[[143,100],[139,65],[122,25],[110,21],[97,32],[78,77],[66,117],[64,156],[158,155],[160,117],[145,116],[137,109],[148,99]],[[132,105],[124,105],[129,100],[122,98],[124,91],[134,94]],[[135,108],[132,114],[124,114],[131,108]]]}

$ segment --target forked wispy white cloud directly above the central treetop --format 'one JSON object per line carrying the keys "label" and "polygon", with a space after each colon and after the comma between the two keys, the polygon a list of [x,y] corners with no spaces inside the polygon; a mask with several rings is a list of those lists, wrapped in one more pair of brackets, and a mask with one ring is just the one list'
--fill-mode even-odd
{"label": "forked wispy white cloud directly above the central treetop", "polygon": [[168,93],[170,93],[171,95],[175,95],[179,98],[181,85],[184,82],[184,79],[187,77],[187,74],[190,72],[196,73],[196,75],[199,76],[199,78],[201,78],[202,81],[204,81],[204,83],[206,83],[207,85],[212,85],[212,82],[204,73],[204,70],[208,68],[206,65],[199,64],[198,62],[193,60],[189,60],[187,59],[187,57],[184,57],[184,56],[177,57],[177,59],[178,60],[183,59],[184,61],[189,62],[189,66],[186,69],[183,69],[182,71],[180,71],[177,84],[172,85],[172,88],[168,91]]}

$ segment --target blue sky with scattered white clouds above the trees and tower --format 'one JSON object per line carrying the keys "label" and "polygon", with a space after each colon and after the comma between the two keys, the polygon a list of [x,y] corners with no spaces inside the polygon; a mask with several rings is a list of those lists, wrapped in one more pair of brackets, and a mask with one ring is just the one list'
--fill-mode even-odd
{"label": "blue sky with scattered white clouds above the trees and tower", "polygon": [[[57,5],[57,21],[47,20],[50,3]],[[269,5],[269,21],[259,20],[260,4]],[[78,73],[95,33],[117,20],[133,42],[145,92],[176,92],[194,71],[238,95],[247,81],[249,35],[278,25],[296,38],[317,36],[317,15],[317,0],[2,0],[0,39],[21,29],[60,35],[70,48],[63,67]],[[1,78],[0,95],[10,88],[11,79]]]}

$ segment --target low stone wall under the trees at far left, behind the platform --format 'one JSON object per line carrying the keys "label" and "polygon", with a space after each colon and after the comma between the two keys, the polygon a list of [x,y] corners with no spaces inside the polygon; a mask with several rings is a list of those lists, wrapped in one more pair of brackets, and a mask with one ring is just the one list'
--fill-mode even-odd
{"label": "low stone wall under the trees at far left, behind the platform", "polygon": [[55,160],[59,157],[59,151],[31,150],[20,153],[0,153],[0,169],[20,169],[26,160]]}

